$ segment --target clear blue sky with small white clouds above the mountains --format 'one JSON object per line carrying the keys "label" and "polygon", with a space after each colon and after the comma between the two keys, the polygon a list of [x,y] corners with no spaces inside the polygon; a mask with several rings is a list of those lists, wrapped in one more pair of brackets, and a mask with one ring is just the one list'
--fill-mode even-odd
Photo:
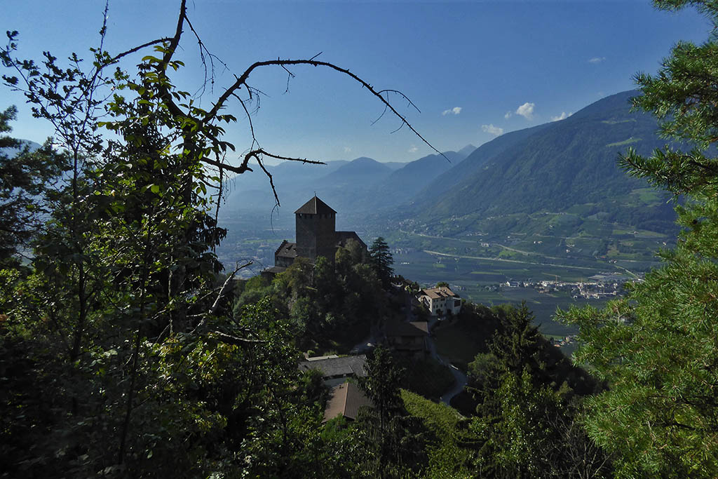
{"label": "clear blue sky with small white clouds above the mountains", "polygon": [[[119,52],[174,32],[177,5],[167,0],[113,0],[106,47]],[[85,55],[95,45],[103,1],[16,2],[4,30],[20,32],[20,55]],[[656,11],[648,1],[218,1],[189,2],[190,20],[213,54],[215,96],[256,60],[307,58],[334,62],[392,98],[397,109],[445,151],[480,145],[502,132],[545,123],[633,88],[638,71],[655,73],[680,39],[701,42],[709,22],[686,10]],[[184,39],[187,68],[180,88],[202,81],[196,42]],[[85,55],[87,56],[87,55]],[[139,60],[139,57],[136,58]],[[132,62],[126,67],[131,68]],[[330,70],[293,68],[286,88],[280,68],[261,70],[251,85],[266,93],[253,116],[265,149],[334,160],[367,156],[411,161],[431,153],[360,85]],[[202,101],[205,106],[211,94]],[[14,135],[42,141],[50,126],[29,116],[24,99],[0,88],[0,108],[16,104]],[[241,109],[232,106],[241,118]],[[238,151],[249,147],[246,122],[228,130]]]}

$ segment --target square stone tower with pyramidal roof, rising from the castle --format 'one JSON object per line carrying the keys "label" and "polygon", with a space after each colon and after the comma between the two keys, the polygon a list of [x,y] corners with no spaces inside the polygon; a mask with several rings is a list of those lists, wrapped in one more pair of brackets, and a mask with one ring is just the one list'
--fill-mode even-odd
{"label": "square stone tower with pyramidal roof, rising from the castle", "polygon": [[309,258],[325,256],[334,261],[337,244],[335,231],[337,212],[317,195],[294,212],[297,227],[297,256]]}

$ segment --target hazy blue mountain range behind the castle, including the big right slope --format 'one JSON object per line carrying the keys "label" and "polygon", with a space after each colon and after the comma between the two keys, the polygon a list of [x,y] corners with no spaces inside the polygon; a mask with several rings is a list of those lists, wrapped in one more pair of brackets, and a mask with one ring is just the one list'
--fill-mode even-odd
{"label": "hazy blue mountain range behind the castle, including the big right slope", "polygon": [[[476,149],[446,152],[450,162],[434,154],[392,169],[360,157],[321,166],[285,163],[270,171],[281,204],[289,210],[316,193],[357,228],[389,228],[409,220],[422,231],[442,235],[543,234],[553,226],[531,215],[553,212],[572,215],[562,223],[566,234],[584,231],[587,221],[594,233],[597,225],[609,231],[612,223],[673,232],[668,195],[649,190],[645,181],[617,166],[629,146],[649,154],[666,143],[658,138],[652,116],[630,111],[635,94],[617,93],[562,121],[511,131]],[[271,210],[274,196],[264,173],[255,171],[247,180],[237,180],[225,213]],[[497,219],[511,215],[521,216]]]}

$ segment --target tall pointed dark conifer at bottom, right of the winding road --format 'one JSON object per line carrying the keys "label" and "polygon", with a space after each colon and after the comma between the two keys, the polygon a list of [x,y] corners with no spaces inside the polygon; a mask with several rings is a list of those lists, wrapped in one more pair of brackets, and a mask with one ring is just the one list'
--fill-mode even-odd
{"label": "tall pointed dark conifer at bottom, right of the winding road", "polygon": [[558,397],[541,381],[538,331],[526,304],[511,308],[494,333],[488,356],[472,363],[480,405],[472,430],[483,475],[536,477],[551,468],[544,450],[556,438],[547,419]]}

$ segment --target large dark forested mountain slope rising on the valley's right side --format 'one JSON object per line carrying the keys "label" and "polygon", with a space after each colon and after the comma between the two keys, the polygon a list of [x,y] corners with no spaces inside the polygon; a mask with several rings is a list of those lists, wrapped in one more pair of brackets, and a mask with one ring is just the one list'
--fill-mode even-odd
{"label": "large dark forested mountain slope rising on the valley's right side", "polygon": [[[499,136],[449,169],[414,198],[409,217],[482,220],[515,213],[597,215],[640,228],[671,228],[665,195],[618,167],[633,147],[649,154],[666,143],[655,118],[630,111],[635,91],[617,93],[573,116]],[[470,227],[466,224],[465,226]]]}

